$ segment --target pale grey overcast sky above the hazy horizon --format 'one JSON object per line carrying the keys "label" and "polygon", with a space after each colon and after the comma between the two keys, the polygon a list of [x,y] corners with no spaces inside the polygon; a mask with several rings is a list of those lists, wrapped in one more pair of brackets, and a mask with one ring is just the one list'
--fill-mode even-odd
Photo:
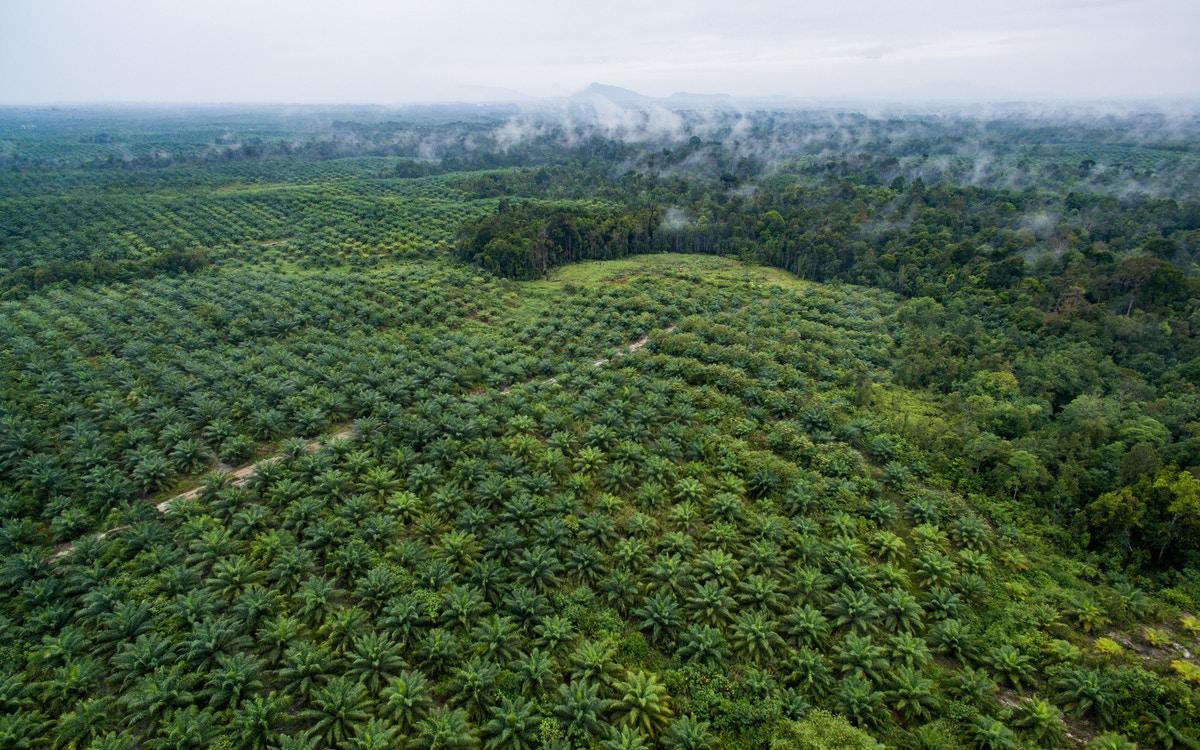
{"label": "pale grey overcast sky above the hazy horizon", "polygon": [[[0,0],[0,102],[1200,95],[1200,0]],[[503,91],[500,91],[503,90]]]}

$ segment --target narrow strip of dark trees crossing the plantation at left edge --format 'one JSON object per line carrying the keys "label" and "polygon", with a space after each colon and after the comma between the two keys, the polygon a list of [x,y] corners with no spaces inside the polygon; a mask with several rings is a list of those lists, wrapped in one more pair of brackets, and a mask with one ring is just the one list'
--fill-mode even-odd
{"label": "narrow strip of dark trees crossing the plantation at left edge", "polygon": [[203,250],[175,250],[132,260],[52,260],[0,276],[0,295],[19,298],[56,283],[132,281],[148,276],[174,276],[198,271],[212,263]]}

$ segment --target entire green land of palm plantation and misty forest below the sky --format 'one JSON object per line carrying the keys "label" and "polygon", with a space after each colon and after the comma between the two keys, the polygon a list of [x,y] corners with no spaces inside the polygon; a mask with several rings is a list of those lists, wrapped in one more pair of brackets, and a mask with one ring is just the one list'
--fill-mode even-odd
{"label": "entire green land of palm plantation and misty forest below the sky", "polygon": [[601,115],[0,109],[0,746],[1196,746],[1200,119]]}

